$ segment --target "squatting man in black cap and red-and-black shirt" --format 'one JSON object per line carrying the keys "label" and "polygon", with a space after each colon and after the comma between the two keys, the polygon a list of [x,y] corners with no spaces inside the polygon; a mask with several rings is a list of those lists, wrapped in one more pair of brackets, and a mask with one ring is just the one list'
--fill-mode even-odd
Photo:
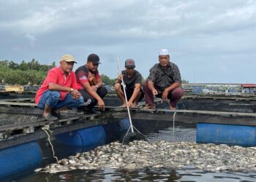
{"label": "squatting man in black cap and red-and-black shirt", "polygon": [[108,90],[103,86],[99,75],[99,56],[91,54],[87,58],[86,65],[80,66],[75,71],[78,82],[78,90],[85,100],[89,113],[97,113],[94,106],[99,105],[100,110],[105,110],[105,103],[102,98],[105,97]]}

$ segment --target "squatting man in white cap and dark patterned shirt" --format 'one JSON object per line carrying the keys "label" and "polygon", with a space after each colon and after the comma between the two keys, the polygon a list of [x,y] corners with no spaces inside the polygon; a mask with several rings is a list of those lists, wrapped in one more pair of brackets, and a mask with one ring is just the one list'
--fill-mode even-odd
{"label": "squatting man in white cap and dark patterned shirt", "polygon": [[155,108],[154,96],[162,100],[170,99],[170,110],[176,109],[178,100],[183,95],[181,86],[181,74],[176,64],[170,62],[168,50],[159,50],[159,63],[150,69],[143,90],[146,96],[144,108]]}

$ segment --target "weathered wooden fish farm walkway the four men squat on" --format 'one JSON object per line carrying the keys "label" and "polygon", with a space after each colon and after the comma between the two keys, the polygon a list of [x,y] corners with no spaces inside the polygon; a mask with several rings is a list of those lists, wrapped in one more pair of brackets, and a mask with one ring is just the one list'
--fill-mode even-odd
{"label": "weathered wooden fish farm walkway the four men squat on", "polygon": [[[99,124],[108,124],[128,116],[127,108],[116,106],[106,106],[101,114],[83,114],[76,110],[61,111],[66,116],[65,119],[56,121],[39,121],[37,116],[42,116],[42,110],[39,110],[34,103],[34,98],[12,98],[0,100],[0,114],[21,114],[24,116],[34,116],[32,122],[20,123],[0,123],[0,149],[9,146],[15,146],[20,143],[46,138],[46,133],[42,127],[52,130],[52,135],[62,132],[79,130],[84,127],[92,127]],[[167,104],[158,100],[159,104]],[[225,111],[197,111],[181,109],[170,111],[170,109],[156,108],[143,109],[131,108],[131,117],[135,120],[146,120],[156,122],[182,122],[195,125],[197,122],[218,123],[218,124],[238,124],[256,126],[256,114],[245,112],[225,112]]]}

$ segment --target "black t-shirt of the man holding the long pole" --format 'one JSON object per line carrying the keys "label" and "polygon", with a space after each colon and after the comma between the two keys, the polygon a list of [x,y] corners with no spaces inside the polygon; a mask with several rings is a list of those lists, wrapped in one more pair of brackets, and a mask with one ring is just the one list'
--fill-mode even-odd
{"label": "black t-shirt of the man holding the long pole", "polygon": [[135,70],[132,77],[128,77],[128,73],[126,70],[121,71],[121,74],[124,75],[124,83],[126,85],[127,90],[133,91],[135,88],[135,84],[141,84],[142,76],[139,71]]}

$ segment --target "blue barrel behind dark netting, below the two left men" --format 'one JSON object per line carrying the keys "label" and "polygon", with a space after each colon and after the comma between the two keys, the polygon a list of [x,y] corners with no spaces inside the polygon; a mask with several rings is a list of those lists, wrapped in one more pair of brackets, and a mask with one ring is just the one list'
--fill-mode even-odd
{"label": "blue barrel behind dark netting, below the two left men", "polygon": [[66,146],[75,146],[79,147],[81,151],[86,151],[86,149],[93,149],[96,146],[104,145],[106,134],[104,128],[98,125],[61,133],[56,135],[56,140]]}

